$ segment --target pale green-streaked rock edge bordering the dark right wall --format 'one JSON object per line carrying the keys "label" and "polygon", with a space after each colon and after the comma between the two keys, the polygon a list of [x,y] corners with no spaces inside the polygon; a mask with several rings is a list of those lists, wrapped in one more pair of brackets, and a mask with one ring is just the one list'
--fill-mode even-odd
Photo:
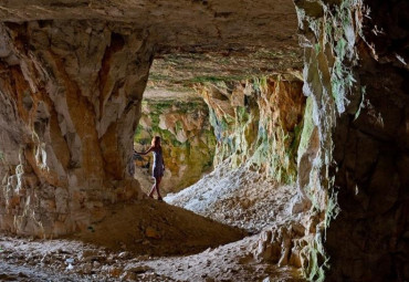
{"label": "pale green-streaked rock edge bordering the dark right wall", "polygon": [[[312,216],[324,215],[313,229],[322,227],[325,232],[338,213],[329,171],[334,165],[332,134],[336,115],[359,109],[348,104],[348,97],[356,84],[354,67],[358,60],[356,41],[361,35],[363,1],[298,1],[295,4],[305,42],[304,92],[311,96],[298,148],[298,187],[313,206]],[[317,7],[322,10],[319,14]],[[304,273],[310,281],[324,281],[328,269],[325,238],[317,234],[304,249],[308,258]]]}

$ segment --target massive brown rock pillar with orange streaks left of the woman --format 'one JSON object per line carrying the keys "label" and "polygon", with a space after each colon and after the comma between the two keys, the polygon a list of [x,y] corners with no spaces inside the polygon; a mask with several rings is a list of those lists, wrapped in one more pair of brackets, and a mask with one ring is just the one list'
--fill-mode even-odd
{"label": "massive brown rock pillar with orange streaks left of the woman", "polygon": [[0,229],[65,234],[139,197],[128,170],[153,60],[144,32],[32,21],[1,23],[0,41]]}

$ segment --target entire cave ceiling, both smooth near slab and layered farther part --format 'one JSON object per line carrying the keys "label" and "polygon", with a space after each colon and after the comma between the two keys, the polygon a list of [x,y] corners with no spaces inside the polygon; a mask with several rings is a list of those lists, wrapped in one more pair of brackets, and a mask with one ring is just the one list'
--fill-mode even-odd
{"label": "entire cave ceiling, both smooth near slab and layered farther part", "polygon": [[105,21],[143,31],[156,46],[153,95],[302,69],[292,0],[3,0],[0,19]]}

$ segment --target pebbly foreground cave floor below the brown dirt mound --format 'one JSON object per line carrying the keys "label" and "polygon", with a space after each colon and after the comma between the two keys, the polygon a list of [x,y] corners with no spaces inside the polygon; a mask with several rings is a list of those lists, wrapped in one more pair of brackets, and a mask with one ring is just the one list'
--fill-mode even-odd
{"label": "pebbly foreground cave floor below the brown dirt mound", "polygon": [[111,251],[73,240],[3,237],[0,280],[303,281],[295,269],[254,261],[248,247],[256,239],[252,236],[198,254],[160,258]]}

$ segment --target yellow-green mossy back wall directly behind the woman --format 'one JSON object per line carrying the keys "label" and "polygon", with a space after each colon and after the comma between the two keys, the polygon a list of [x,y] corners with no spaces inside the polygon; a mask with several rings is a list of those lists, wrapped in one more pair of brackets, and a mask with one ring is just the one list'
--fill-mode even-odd
{"label": "yellow-green mossy back wall directly behind the woman", "polygon": [[[161,190],[177,192],[196,181],[213,165],[216,138],[209,123],[209,109],[202,98],[145,98],[135,134],[135,148],[145,150],[154,136],[160,136],[166,165]],[[149,161],[150,160],[150,161]],[[153,165],[153,157],[136,160],[137,170]],[[137,174],[137,179],[150,190],[150,169]]]}

